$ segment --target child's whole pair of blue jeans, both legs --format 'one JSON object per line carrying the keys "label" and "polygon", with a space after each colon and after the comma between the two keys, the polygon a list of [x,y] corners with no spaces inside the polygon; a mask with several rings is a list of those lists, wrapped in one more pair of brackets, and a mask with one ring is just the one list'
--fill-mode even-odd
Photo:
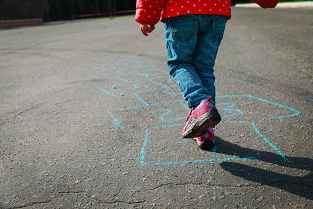
{"label": "child's whole pair of blue jeans, both legs", "polygon": [[164,22],[170,75],[188,107],[212,96],[215,103],[214,64],[229,17],[182,15]]}

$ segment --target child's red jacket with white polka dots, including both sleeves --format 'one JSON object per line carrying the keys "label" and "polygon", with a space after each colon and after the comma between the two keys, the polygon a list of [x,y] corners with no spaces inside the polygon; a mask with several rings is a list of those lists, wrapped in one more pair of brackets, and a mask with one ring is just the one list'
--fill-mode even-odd
{"label": "child's red jacket with white polka dots, including both sleeves", "polygon": [[[274,8],[279,0],[251,0],[262,8]],[[136,22],[157,24],[180,15],[225,15],[231,17],[230,0],[137,0]]]}

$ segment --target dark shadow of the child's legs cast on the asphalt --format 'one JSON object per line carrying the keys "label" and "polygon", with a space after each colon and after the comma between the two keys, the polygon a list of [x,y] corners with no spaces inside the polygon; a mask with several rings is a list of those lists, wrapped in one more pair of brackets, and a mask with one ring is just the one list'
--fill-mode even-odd
{"label": "dark shadow of the child's legs cast on the asphalt", "polygon": [[[266,151],[252,150],[243,148],[228,141],[224,141],[219,137],[216,139],[216,153],[225,155],[236,155],[238,157],[255,157],[257,160],[278,164],[283,167],[291,167],[294,169],[303,169],[307,171],[313,170],[313,160],[305,157],[288,157],[286,162],[280,155]],[[222,162],[220,167],[229,171],[234,176],[239,176],[246,180],[254,181],[261,185],[269,185],[284,189],[287,192],[303,196],[307,199],[313,199],[313,173],[310,172],[307,176],[288,176],[285,174],[275,173],[250,167],[245,164],[236,162]]]}

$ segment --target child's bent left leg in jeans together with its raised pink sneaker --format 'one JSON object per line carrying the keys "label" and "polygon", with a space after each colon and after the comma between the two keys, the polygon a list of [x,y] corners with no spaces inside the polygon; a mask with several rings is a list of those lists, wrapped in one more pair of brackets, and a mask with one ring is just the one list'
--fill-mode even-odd
{"label": "child's bent left leg in jeans together with its raised pink sneaker", "polygon": [[200,137],[207,133],[208,127],[220,122],[220,114],[194,65],[199,29],[205,28],[200,19],[203,15],[184,15],[164,21],[170,75],[181,89],[188,107],[199,104],[189,111],[182,131],[185,138]]}

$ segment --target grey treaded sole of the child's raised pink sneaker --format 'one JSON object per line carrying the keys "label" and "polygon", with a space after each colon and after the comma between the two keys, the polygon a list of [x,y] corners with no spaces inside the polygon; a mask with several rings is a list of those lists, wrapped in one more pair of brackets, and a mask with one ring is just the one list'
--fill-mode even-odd
{"label": "grey treaded sole of the child's raised pink sneaker", "polygon": [[214,127],[220,123],[220,120],[220,114],[218,114],[217,109],[210,109],[206,114],[197,118],[193,125],[188,127],[182,135],[184,138],[200,137],[207,133],[209,127]]}

